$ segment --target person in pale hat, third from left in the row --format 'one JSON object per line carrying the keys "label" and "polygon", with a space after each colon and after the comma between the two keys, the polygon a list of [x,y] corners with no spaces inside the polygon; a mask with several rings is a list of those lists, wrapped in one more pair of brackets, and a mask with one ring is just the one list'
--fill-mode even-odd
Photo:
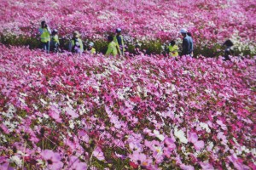
{"label": "person in pale hat, third from left in the row", "polygon": [[79,31],[73,32],[73,38],[69,42],[69,51],[72,53],[79,53],[82,54],[84,51],[84,45],[82,40],[80,39]]}

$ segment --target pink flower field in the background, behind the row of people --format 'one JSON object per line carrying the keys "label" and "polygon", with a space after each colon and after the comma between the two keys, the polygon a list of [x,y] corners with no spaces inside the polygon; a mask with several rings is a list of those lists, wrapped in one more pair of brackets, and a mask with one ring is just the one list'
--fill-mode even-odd
{"label": "pink flower field in the background, behind the row of people", "polygon": [[68,38],[77,30],[84,38],[105,39],[122,28],[125,41],[162,42],[188,28],[195,46],[212,48],[227,38],[237,50],[256,54],[255,0],[1,0],[0,34],[36,37],[42,20]]}

